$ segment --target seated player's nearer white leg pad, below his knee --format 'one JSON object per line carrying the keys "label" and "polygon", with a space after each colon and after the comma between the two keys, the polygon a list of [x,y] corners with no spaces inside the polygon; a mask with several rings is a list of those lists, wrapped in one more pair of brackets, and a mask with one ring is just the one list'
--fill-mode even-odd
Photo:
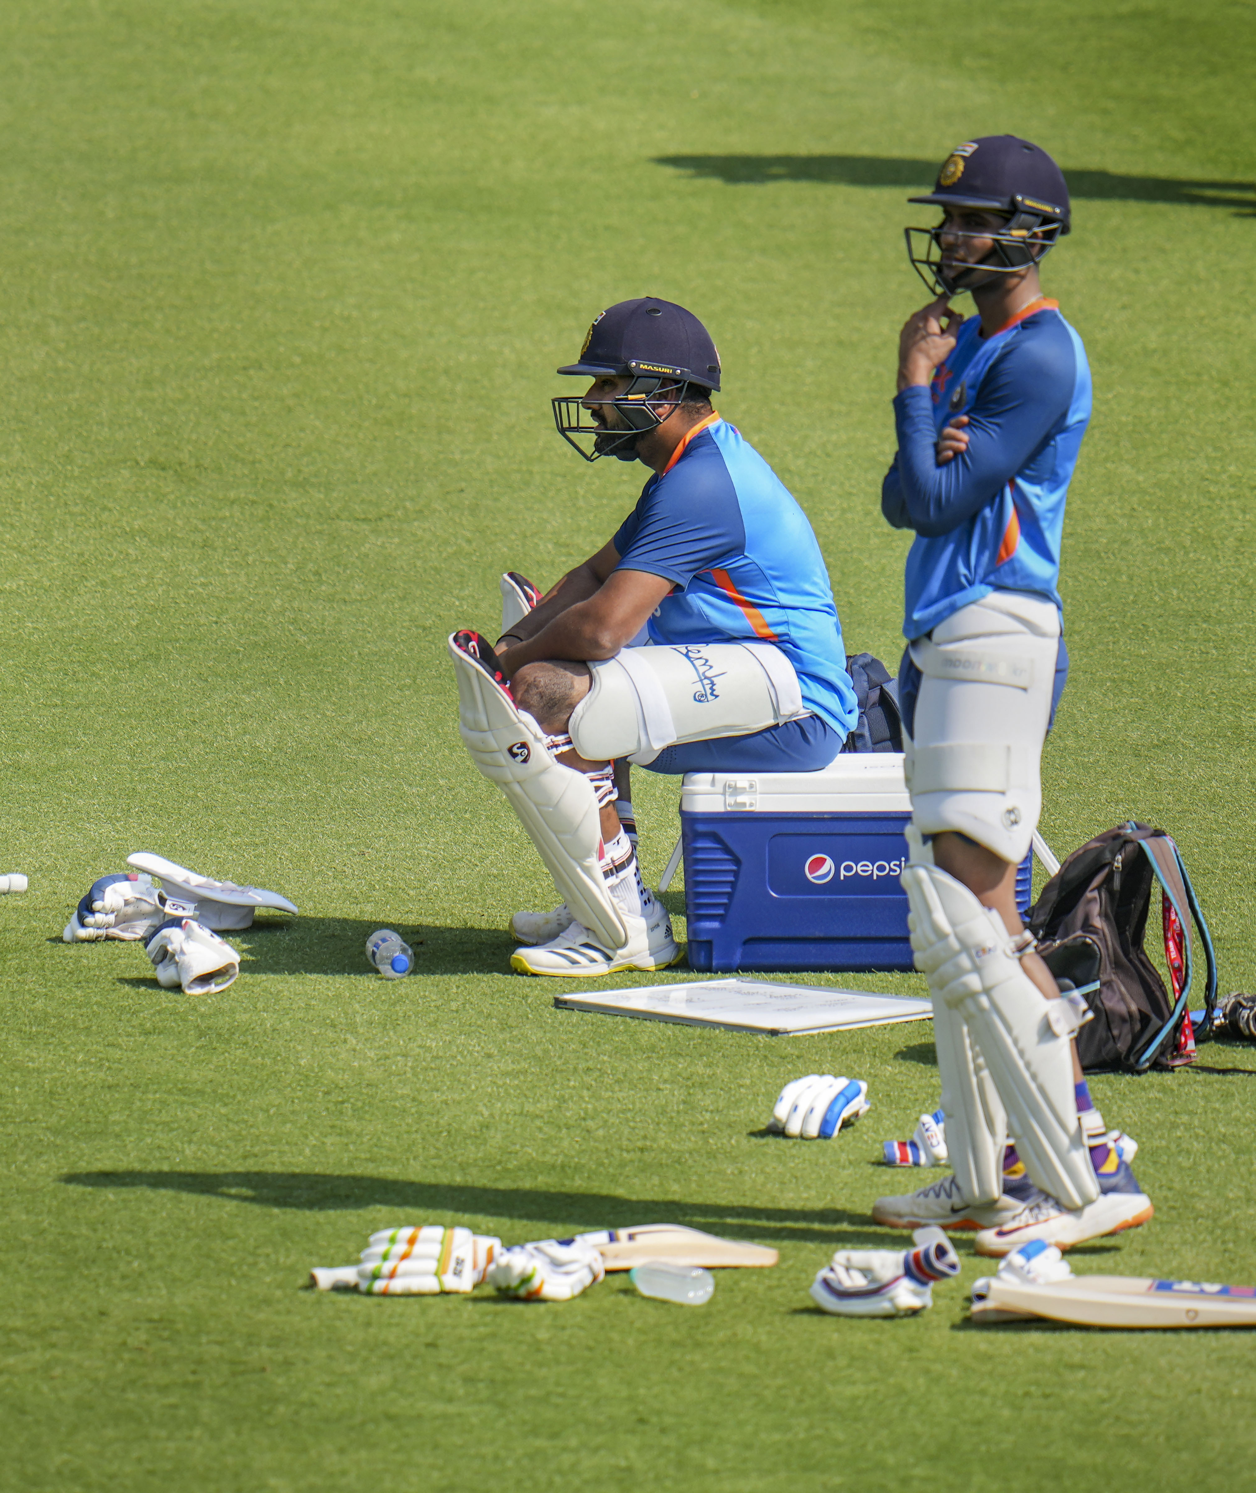
{"label": "seated player's nearer white leg pad, below his knee", "polygon": [[458,730],[472,761],[505,793],[576,921],[611,950],[627,944],[624,921],[599,867],[602,824],[582,772],[554,761],[545,733],[450,638],[458,681]]}

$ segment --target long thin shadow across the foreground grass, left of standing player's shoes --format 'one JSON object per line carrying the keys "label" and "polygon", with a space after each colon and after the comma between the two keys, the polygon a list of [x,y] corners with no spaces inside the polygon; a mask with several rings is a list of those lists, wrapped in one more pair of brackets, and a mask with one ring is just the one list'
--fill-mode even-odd
{"label": "long thin shadow across the foreground grass, left of standing player's shoes", "polygon": [[297,1208],[308,1212],[394,1208],[403,1221],[470,1214],[485,1218],[538,1220],[579,1229],[621,1229],[642,1223],[678,1223],[729,1238],[821,1241],[857,1236],[881,1239],[866,1215],[841,1208],[753,1208],[741,1203],[685,1202],[675,1197],[620,1197],[614,1193],[562,1193],[529,1187],[473,1187],[460,1182],[406,1182],[385,1176],[326,1172],[69,1172],[70,1187],[125,1187],[194,1193]]}

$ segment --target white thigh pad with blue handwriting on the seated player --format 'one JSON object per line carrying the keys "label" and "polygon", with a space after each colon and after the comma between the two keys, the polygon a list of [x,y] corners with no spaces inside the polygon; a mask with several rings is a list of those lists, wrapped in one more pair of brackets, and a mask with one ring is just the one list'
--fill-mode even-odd
{"label": "white thigh pad with blue handwriting on the seated player", "polygon": [[590,663],[572,712],[581,757],[641,766],[665,746],[748,736],[806,715],[793,664],[771,643],[654,643]]}

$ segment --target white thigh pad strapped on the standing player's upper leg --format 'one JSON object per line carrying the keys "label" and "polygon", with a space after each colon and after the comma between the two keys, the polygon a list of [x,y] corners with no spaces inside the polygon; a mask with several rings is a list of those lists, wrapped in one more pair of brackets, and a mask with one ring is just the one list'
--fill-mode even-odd
{"label": "white thigh pad strapped on the standing player's upper leg", "polygon": [[911,645],[923,678],[908,787],[921,833],[959,830],[1004,860],[1025,858],[1042,809],[1059,636],[1053,603],[993,591]]}

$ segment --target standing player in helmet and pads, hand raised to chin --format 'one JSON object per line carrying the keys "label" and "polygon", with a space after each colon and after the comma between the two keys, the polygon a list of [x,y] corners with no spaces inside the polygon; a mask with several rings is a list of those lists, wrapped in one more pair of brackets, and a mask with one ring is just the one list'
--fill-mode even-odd
{"label": "standing player in helmet and pads, hand raised to chin", "polygon": [[[977,1229],[983,1254],[1030,1239],[1068,1248],[1151,1217],[1078,1082],[1084,1003],[1060,996],[1016,906],[1068,673],[1056,587],[1090,418],[1086,349],[1038,279],[1069,231],[1068,187],[1045,151],[1002,134],[956,146],[933,191],[911,200],[942,211],[935,228],[907,230],[936,300],[899,339],[881,509],[915,533],[899,673],[913,806],[902,882],[954,1173],[881,1197],[874,1217]],[[960,293],[977,315],[951,308]]]}

